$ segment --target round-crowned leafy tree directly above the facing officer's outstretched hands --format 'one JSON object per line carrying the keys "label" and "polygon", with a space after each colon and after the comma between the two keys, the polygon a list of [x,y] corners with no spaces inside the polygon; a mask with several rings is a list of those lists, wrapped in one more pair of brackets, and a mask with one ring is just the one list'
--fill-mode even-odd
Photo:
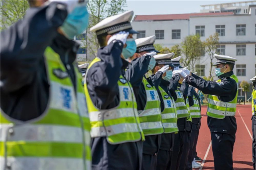
{"label": "round-crowned leafy tree directly above the facing officer's outstretched hands", "polygon": [[202,56],[203,48],[204,45],[199,35],[186,36],[181,43],[181,52],[185,56],[180,60],[182,65],[184,67],[191,66],[192,72],[194,72],[194,65]]}

